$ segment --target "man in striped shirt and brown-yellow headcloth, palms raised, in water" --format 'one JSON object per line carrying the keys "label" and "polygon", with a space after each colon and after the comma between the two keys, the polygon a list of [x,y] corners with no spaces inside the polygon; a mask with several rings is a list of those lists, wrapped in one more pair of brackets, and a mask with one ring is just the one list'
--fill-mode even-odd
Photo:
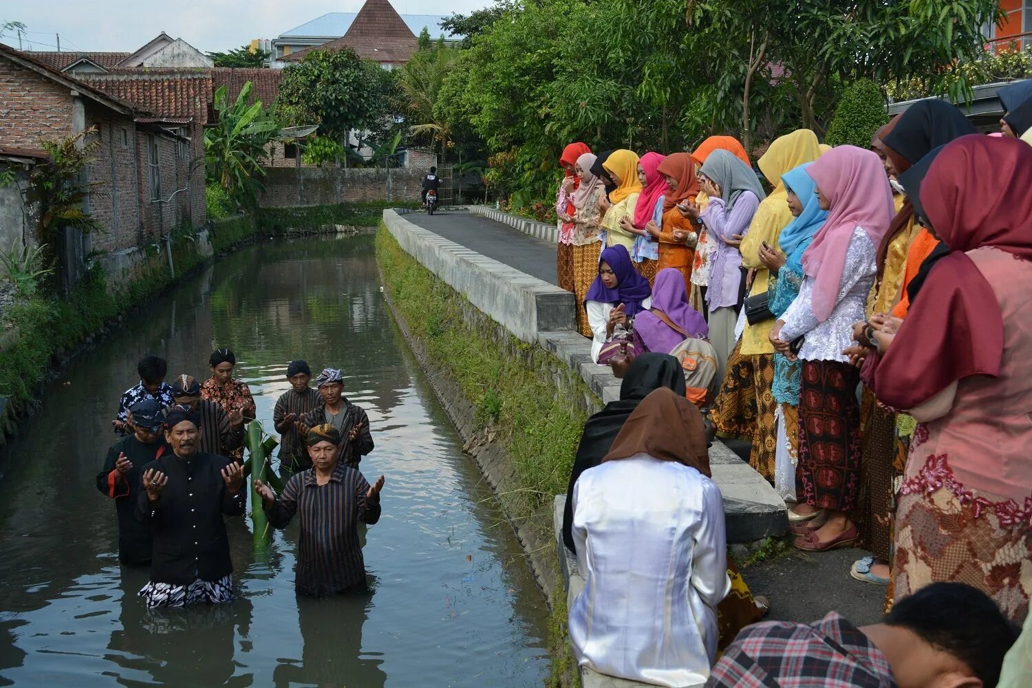
{"label": "man in striped shirt and brown-yellow headcloth, palms raised, in water", "polygon": [[329,424],[309,428],[305,443],[313,467],[287,482],[277,498],[271,488],[255,481],[268,521],[286,528],[301,517],[294,587],[299,594],[325,597],[365,590],[365,561],[358,524],[380,520],[384,477],[370,486],[356,468],[338,461],[341,433]]}

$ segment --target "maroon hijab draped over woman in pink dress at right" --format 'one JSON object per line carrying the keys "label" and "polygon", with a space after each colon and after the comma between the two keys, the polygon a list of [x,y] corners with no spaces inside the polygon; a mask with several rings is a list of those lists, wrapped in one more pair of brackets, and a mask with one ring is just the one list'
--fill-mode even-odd
{"label": "maroon hijab draped over woman in pink dress at right", "polygon": [[875,371],[878,398],[913,408],[969,375],[995,376],[1003,317],[992,287],[966,252],[994,247],[1032,260],[1032,146],[981,134],[947,144],[932,163],[921,202],[949,247]]}

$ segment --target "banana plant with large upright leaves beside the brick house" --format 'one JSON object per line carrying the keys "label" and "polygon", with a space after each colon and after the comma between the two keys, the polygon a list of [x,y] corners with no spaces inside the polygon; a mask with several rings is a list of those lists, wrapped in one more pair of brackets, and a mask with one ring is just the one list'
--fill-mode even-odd
{"label": "banana plant with large upright leaves beside the brick house", "polygon": [[207,178],[218,183],[246,207],[254,207],[255,196],[264,176],[259,159],[265,145],[280,129],[279,123],[260,100],[248,105],[251,81],[244,85],[236,100],[229,102],[226,87],[214,97],[217,122],[204,130],[204,165]]}

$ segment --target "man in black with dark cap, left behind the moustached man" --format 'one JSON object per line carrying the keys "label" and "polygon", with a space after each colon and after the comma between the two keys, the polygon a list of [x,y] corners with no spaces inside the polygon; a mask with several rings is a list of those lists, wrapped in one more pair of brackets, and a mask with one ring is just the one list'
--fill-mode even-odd
{"label": "man in black with dark cap, left behind the moustached man", "polygon": [[162,407],[151,398],[129,407],[126,428],[132,434],[107,450],[104,467],[97,473],[97,489],[115,500],[119,515],[119,560],[141,565],[151,561],[151,529],[133,515],[136,497],[142,491],[143,465],[169,451],[161,434]]}

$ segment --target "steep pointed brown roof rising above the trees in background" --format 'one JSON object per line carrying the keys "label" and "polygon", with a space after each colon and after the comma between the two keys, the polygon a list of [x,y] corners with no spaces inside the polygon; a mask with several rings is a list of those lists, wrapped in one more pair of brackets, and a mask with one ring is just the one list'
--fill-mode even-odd
{"label": "steep pointed brown roof rising above the trees in background", "polygon": [[292,53],[285,60],[301,60],[313,50],[350,47],[363,60],[405,63],[418,48],[416,34],[388,0],[365,0],[348,32],[323,45]]}

